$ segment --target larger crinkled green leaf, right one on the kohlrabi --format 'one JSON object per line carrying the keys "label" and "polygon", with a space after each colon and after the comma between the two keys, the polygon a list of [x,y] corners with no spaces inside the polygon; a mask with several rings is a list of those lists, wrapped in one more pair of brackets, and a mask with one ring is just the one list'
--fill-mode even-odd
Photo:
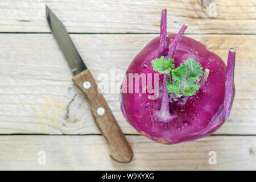
{"label": "larger crinkled green leaf, right one on the kohlrabi", "polygon": [[166,85],[169,93],[175,93],[177,95],[192,96],[196,94],[196,90],[199,89],[199,85],[195,84],[195,81],[203,75],[201,71],[203,67],[195,61],[193,58],[189,58],[179,67],[172,71],[172,83]]}

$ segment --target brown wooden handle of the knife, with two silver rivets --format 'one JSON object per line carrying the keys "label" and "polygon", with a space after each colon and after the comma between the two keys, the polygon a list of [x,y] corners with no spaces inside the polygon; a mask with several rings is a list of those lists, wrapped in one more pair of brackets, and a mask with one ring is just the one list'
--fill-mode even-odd
{"label": "brown wooden handle of the knife, with two silver rivets", "polygon": [[73,77],[75,85],[85,94],[94,120],[110,147],[110,157],[118,162],[130,162],[133,151],[123,135],[105,98],[98,92],[97,84],[89,69]]}

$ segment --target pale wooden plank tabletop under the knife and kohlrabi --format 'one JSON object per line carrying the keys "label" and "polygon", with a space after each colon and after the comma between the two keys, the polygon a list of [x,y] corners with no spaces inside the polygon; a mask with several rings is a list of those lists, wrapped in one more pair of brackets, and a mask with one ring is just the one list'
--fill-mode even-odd
{"label": "pale wooden plank tabletop under the knife and kohlrabi", "polygon": [[[165,7],[168,32],[187,22],[187,36],[225,62],[228,49],[236,48],[237,92],[229,119],[210,137],[168,146],[139,135],[123,118],[118,93],[104,93],[134,150],[131,163],[113,161],[50,34],[46,4],[71,33],[98,84],[100,73],[115,71],[118,85],[134,56],[159,35]],[[255,170],[255,35],[254,0],[1,1],[0,169]],[[208,162],[210,151],[217,154],[215,165]]]}

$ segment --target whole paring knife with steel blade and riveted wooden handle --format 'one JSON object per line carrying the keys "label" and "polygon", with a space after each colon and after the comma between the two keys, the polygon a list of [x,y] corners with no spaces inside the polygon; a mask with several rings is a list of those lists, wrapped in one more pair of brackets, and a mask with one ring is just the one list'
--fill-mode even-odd
{"label": "whole paring knife with steel blade and riveted wooden handle", "polygon": [[90,104],[94,121],[109,144],[110,157],[118,162],[130,162],[133,159],[133,151],[118,126],[112,111],[109,109],[105,98],[98,92],[97,84],[77,52],[66,28],[48,6],[46,6],[46,18],[53,36],[55,36],[61,51],[71,67],[74,75],[72,80],[85,94]]}

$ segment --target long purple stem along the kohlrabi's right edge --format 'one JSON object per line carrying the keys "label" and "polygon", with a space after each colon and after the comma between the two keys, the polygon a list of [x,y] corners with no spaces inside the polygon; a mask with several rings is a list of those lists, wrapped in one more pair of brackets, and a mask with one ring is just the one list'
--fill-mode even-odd
{"label": "long purple stem along the kohlrabi's right edge", "polygon": [[226,66],[226,81],[225,81],[225,93],[224,104],[221,119],[229,117],[232,103],[234,100],[234,67],[236,62],[236,49],[230,48],[228,55],[228,63]]}

